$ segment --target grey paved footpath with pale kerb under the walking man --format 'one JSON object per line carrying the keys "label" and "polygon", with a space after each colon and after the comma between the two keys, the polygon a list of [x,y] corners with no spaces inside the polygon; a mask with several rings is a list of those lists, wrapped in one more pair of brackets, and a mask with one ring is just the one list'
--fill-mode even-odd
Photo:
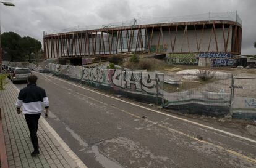
{"label": "grey paved footpath with pale kerb under the walking man", "polygon": [[[43,115],[38,126],[40,155],[33,158],[30,134],[23,114],[17,114],[15,102],[19,90],[11,82],[0,90],[2,127],[7,161],[12,167],[86,167],[69,146],[49,126]],[[1,138],[1,137],[0,137]]]}

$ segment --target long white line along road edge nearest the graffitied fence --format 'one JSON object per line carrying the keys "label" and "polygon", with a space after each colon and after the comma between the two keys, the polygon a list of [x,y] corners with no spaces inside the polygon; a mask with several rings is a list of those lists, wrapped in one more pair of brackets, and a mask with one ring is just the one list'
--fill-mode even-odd
{"label": "long white line along road edge nearest the graffitied fence", "polygon": [[[38,73],[38,74],[41,74],[41,73]],[[41,74],[41,75],[43,75],[43,76],[48,76],[49,78],[57,79],[57,80],[62,81],[62,82],[66,82],[66,83],[68,83],[68,84],[70,84],[70,85],[79,87],[79,88],[81,88],[81,89],[85,89],[85,90],[88,90],[88,91],[90,91],[90,92],[103,95],[103,96],[105,96],[105,97],[113,98],[114,100],[118,100],[118,101],[120,101],[120,102],[128,103],[128,104],[130,104],[130,105],[134,105],[134,106],[137,106],[137,107],[139,107],[139,108],[143,108],[143,109],[146,109],[146,110],[149,110],[149,111],[153,111],[153,112],[155,112],[155,113],[162,114],[162,115],[164,115],[164,116],[169,116],[169,117],[171,117],[171,118],[179,119],[179,120],[181,120],[181,121],[186,121],[186,122],[189,122],[189,123],[191,123],[191,124],[195,124],[195,125],[200,126],[200,127],[205,127],[205,128],[207,128],[207,129],[210,129],[210,130],[215,130],[216,132],[221,132],[221,133],[223,133],[223,134],[230,135],[231,137],[237,137],[237,138],[241,138],[242,140],[247,140],[247,141],[249,141],[249,142],[256,143],[256,140],[253,140],[253,139],[250,139],[250,138],[247,138],[247,137],[243,137],[243,136],[241,136],[241,135],[236,135],[236,134],[233,134],[233,133],[231,133],[231,132],[227,132],[227,131],[224,131],[224,130],[221,130],[221,129],[216,129],[216,128],[214,128],[214,127],[206,126],[206,125],[200,124],[200,123],[198,123],[198,122],[190,121],[190,120],[188,120],[188,119],[179,118],[179,117],[177,117],[177,116],[173,116],[172,114],[166,114],[166,113],[163,113],[163,112],[158,111],[158,110],[153,110],[153,109],[147,108],[147,107],[145,107],[145,106],[137,105],[137,104],[132,103],[132,102],[127,102],[126,100],[121,100],[120,98],[112,97],[112,96],[109,96],[109,95],[106,95],[106,94],[97,92],[97,91],[95,91],[95,90],[92,90],[92,89],[88,89],[88,88],[86,88],[86,87],[79,86],[79,85],[74,84],[74,83],[72,83],[72,82],[68,82],[68,81],[65,81],[65,80],[63,80],[63,79],[55,78],[55,77],[50,76],[50,75],[48,75],[48,74]]]}

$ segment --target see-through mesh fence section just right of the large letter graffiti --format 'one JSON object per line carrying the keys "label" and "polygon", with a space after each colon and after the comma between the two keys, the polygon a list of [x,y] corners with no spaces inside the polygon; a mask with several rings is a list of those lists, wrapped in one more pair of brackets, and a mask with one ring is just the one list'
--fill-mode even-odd
{"label": "see-through mesh fence section just right of the large letter graffiti", "polygon": [[232,74],[164,74],[163,106],[195,114],[228,114],[232,81]]}

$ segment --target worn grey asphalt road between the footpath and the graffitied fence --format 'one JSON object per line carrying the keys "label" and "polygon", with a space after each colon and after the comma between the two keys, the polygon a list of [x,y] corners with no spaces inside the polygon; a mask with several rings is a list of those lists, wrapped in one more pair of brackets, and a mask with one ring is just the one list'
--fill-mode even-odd
{"label": "worn grey asphalt road between the footpath and the graffitied fence", "polygon": [[256,167],[255,137],[36,74],[49,97],[47,121],[88,167]]}

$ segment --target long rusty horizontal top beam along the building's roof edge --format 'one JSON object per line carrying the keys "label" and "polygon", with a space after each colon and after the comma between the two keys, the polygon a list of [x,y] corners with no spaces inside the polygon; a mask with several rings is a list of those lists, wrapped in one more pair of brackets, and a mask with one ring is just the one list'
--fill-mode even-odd
{"label": "long rusty horizontal top beam along the building's roof edge", "polygon": [[[237,22],[234,21],[228,21],[228,20],[215,20],[214,21],[215,24],[228,24],[228,25],[237,25],[239,27],[242,28],[242,25],[240,25]],[[213,21],[197,21],[197,22],[174,22],[174,23],[158,23],[158,24],[148,24],[148,25],[133,25],[133,26],[119,26],[119,27],[115,27],[115,28],[99,28],[99,29],[94,29],[94,30],[82,30],[82,33],[85,31],[90,31],[90,32],[96,32],[96,31],[112,31],[112,30],[131,30],[131,29],[139,29],[139,28],[147,28],[147,27],[168,27],[168,26],[176,26],[176,25],[181,25],[181,26],[185,26],[185,25],[211,25],[213,24]],[[59,36],[60,34],[77,34],[79,31],[72,31],[72,32],[68,32],[68,33],[56,33],[56,34],[48,34],[45,35],[45,37],[48,36]]]}

